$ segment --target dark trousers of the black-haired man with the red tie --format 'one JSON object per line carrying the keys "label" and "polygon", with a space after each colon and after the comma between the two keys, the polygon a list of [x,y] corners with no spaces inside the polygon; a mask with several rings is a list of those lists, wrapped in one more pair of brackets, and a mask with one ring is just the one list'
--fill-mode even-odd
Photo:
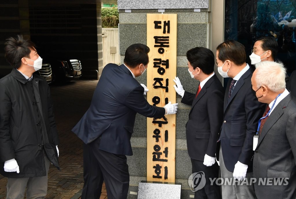
{"label": "dark trousers of the black-haired man with the red tie", "polygon": [[219,166],[217,162],[212,166],[205,166],[203,161],[191,159],[192,163],[192,173],[203,171],[205,173],[205,187],[194,192],[194,199],[220,199],[221,192],[220,186],[218,186],[215,181],[211,185],[210,178],[218,178]]}

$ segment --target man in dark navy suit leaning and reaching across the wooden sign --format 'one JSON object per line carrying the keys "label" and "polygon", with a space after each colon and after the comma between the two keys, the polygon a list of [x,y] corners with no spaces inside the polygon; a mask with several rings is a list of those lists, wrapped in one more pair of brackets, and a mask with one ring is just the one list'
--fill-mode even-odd
{"label": "man in dark navy suit leaning and reaching across the wooden sign", "polygon": [[175,114],[178,104],[149,105],[135,77],[148,66],[149,47],[133,44],[124,64],[107,64],[94,91],[91,105],[72,131],[83,140],[82,199],[100,198],[103,181],[109,199],[126,199],[129,187],[126,155],[133,155],[131,134],[136,113],[161,118]]}

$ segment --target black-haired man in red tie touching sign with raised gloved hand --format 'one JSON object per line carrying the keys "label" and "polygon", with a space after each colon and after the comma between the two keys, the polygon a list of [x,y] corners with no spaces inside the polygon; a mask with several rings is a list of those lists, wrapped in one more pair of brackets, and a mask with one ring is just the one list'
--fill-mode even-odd
{"label": "black-haired man in red tie touching sign with raised gloved hand", "polygon": [[181,102],[191,105],[189,119],[186,123],[186,140],[192,173],[203,171],[206,184],[201,190],[194,192],[194,198],[221,198],[220,187],[210,185],[209,178],[218,178],[218,164],[215,160],[216,144],[223,119],[224,89],[215,75],[215,57],[212,51],[203,47],[190,49],[186,53],[188,71],[192,78],[200,81],[196,93],[183,89],[176,77],[174,85],[181,95]]}

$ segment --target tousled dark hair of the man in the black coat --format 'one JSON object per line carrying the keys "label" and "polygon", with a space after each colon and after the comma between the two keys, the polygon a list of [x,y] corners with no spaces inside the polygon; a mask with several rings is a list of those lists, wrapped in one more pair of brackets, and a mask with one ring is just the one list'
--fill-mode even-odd
{"label": "tousled dark hair of the man in the black coat", "polygon": [[13,68],[19,68],[23,57],[30,57],[31,50],[36,49],[35,44],[22,35],[9,37],[5,42],[5,58]]}

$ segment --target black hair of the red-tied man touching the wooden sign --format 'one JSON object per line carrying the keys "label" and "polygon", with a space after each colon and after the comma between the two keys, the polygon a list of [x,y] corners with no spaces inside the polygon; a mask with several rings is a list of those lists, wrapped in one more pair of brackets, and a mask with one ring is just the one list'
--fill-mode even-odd
{"label": "black hair of the red-tied man touching the wooden sign", "polygon": [[204,47],[195,47],[187,51],[186,57],[193,69],[198,67],[206,75],[213,73],[215,57],[211,50]]}

